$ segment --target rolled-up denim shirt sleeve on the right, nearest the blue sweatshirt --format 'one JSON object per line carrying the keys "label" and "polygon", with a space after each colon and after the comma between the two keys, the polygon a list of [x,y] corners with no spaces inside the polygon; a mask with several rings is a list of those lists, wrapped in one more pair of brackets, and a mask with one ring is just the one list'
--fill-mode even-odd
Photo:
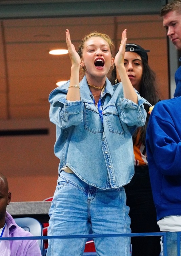
{"label": "rolled-up denim shirt sleeve on the right, nearest the blue sweatshirt", "polygon": [[146,111],[143,104],[148,104],[152,106],[147,100],[142,98],[138,93],[138,104],[126,98],[120,99],[120,109],[121,109],[121,120],[128,126],[144,126],[146,121]]}

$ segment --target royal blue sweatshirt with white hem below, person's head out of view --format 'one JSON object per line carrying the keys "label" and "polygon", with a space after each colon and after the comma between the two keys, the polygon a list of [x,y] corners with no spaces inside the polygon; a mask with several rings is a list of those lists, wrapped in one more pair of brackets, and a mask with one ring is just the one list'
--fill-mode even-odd
{"label": "royal blue sweatshirt with white hem below, person's head out of view", "polygon": [[155,105],[146,151],[157,219],[181,215],[181,97]]}

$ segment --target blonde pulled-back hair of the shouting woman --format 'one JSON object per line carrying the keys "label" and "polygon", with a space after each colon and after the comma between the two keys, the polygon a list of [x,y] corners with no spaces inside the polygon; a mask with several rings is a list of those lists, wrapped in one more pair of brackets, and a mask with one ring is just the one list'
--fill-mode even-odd
{"label": "blonde pulled-back hair of the shouting woman", "polygon": [[104,39],[104,40],[108,43],[109,48],[110,48],[110,52],[111,52],[111,54],[112,54],[112,51],[113,51],[113,48],[114,48],[114,43],[113,43],[113,41],[110,39],[110,37],[109,37],[108,35],[106,35],[106,34],[98,33],[97,31],[94,31],[94,32],[88,34],[87,36],[85,36],[85,37],[82,39],[81,44],[78,46],[78,51],[77,51],[77,52],[78,52],[80,58],[82,58],[82,51],[83,51],[85,42],[86,42],[88,39],[92,38],[92,37],[101,37],[102,39]]}

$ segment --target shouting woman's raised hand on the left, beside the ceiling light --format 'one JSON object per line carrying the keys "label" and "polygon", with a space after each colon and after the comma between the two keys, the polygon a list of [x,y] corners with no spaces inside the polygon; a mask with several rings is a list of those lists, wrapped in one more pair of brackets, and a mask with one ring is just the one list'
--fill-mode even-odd
{"label": "shouting woman's raised hand on the left, beside the ceiling light", "polygon": [[65,33],[66,33],[66,43],[68,48],[68,54],[70,56],[72,66],[73,65],[80,66],[80,62],[81,62],[80,56],[76,52],[75,46],[71,42],[71,36],[70,36],[69,30],[66,29]]}

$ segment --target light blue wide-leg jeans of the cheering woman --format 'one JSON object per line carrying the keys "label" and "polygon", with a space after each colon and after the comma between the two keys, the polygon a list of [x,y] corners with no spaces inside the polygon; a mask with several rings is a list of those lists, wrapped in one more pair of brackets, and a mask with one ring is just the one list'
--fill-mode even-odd
{"label": "light blue wide-leg jeans of the cheering woman", "polygon": [[[124,188],[101,190],[61,171],[49,210],[48,235],[131,233]],[[47,256],[81,256],[86,238],[51,239]],[[99,256],[130,256],[129,237],[95,238]]]}

